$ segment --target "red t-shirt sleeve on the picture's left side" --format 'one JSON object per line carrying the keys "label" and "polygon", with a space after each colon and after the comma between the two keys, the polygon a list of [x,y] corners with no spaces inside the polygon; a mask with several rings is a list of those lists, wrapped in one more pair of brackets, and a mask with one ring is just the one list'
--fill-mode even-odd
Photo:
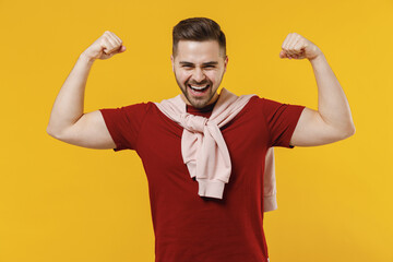
{"label": "red t-shirt sleeve on the picture's left side", "polygon": [[116,144],[114,151],[136,150],[138,135],[147,112],[147,104],[102,108],[99,111]]}

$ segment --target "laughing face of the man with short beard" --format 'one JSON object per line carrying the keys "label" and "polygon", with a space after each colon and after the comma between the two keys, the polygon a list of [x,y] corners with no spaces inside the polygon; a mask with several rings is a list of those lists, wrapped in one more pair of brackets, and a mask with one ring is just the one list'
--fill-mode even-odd
{"label": "laughing face of the man with short beard", "polygon": [[228,57],[221,56],[218,41],[180,40],[170,60],[184,103],[203,108],[217,99],[228,63]]}

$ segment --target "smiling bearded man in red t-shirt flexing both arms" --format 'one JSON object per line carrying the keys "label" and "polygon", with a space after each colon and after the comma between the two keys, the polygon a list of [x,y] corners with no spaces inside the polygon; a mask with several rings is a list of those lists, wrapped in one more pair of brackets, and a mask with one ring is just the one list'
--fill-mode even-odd
{"label": "smiling bearded man in red t-shirt flexing both arms", "polygon": [[315,146],[353,135],[345,94],[322,51],[296,33],[288,34],[279,57],[311,62],[318,111],[218,94],[228,57],[214,21],[183,20],[172,37],[179,96],[84,114],[93,62],[126,51],[118,36],[105,32],[61,87],[47,132],[84,147],[138,152],[148,180],[156,261],[269,261],[263,212],[275,207],[263,200],[266,154],[273,146]]}

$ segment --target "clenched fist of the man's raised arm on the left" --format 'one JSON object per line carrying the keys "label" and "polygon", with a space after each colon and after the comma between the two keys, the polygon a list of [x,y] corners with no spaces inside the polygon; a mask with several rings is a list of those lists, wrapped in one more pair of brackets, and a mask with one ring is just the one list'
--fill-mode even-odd
{"label": "clenched fist of the man's raised arm on the left", "polygon": [[97,40],[95,40],[83,55],[88,60],[108,59],[116,53],[126,51],[122,40],[114,33],[106,31]]}

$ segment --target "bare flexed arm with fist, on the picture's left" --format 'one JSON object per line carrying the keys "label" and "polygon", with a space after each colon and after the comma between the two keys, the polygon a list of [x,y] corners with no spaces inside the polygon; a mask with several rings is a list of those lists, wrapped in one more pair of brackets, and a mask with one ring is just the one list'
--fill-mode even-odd
{"label": "bare flexed arm with fist, on the picture's left", "polygon": [[116,148],[102,112],[83,112],[84,92],[94,61],[108,59],[124,50],[119,37],[105,32],[79,57],[55,100],[47,127],[49,135],[88,148]]}

